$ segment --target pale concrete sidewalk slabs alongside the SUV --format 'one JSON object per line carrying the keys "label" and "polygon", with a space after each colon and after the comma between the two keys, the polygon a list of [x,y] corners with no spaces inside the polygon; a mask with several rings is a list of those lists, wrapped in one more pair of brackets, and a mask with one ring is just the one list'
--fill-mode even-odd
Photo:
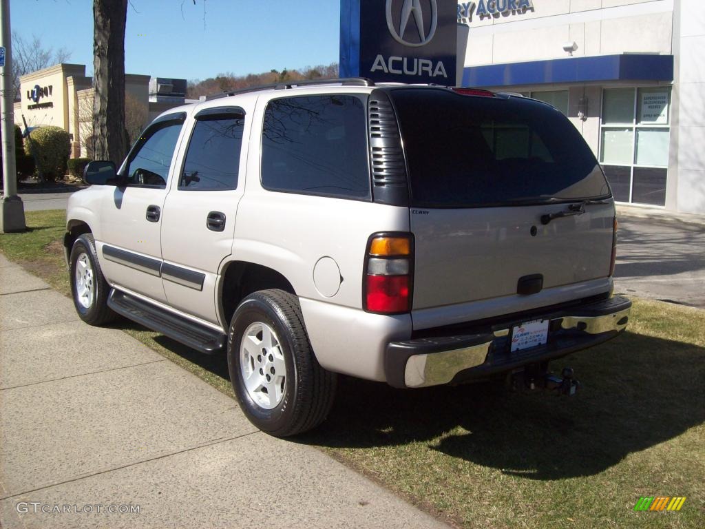
{"label": "pale concrete sidewalk slabs alongside the SUV", "polygon": [[317,449],[258,432],[233,399],[84,324],[2,255],[0,429],[7,529],[446,527]]}

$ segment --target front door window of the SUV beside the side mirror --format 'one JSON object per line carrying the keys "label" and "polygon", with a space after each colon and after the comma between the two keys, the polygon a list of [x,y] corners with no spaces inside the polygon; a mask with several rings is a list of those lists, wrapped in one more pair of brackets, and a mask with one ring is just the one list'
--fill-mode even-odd
{"label": "front door window of the SUV beside the side mirror", "polygon": [[128,186],[166,188],[181,126],[182,121],[165,121],[148,128],[137,140],[137,150],[126,168]]}

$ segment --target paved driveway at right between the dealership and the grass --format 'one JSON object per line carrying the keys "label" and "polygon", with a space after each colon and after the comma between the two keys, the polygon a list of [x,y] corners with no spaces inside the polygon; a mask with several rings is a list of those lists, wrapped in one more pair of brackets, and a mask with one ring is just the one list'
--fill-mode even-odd
{"label": "paved driveway at right between the dealership and the grass", "polygon": [[615,286],[705,308],[705,224],[620,217]]}

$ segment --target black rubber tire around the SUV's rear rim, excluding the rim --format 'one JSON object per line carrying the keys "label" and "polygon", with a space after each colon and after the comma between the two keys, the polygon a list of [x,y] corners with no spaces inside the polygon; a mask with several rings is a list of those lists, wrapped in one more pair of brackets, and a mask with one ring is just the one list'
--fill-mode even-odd
{"label": "black rubber tire around the SUV's rear rim, excluding the rim", "polygon": [[[283,355],[286,365],[281,401],[269,409],[261,406],[245,387],[241,362],[245,332],[257,329],[258,324],[266,324],[274,331],[277,351]],[[275,437],[311,430],[325,420],[333,404],[337,375],[319,365],[309,343],[298,299],[286,291],[258,291],[240,303],[228,330],[228,370],[247,418]],[[260,392],[259,396],[264,395]]]}

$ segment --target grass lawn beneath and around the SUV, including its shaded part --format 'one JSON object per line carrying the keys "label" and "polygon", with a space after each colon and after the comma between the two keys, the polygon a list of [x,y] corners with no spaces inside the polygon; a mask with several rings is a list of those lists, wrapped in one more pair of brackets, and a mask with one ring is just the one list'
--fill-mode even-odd
{"label": "grass lawn beneath and around the SUV, including its shaded part", "polygon": [[[0,250],[68,293],[63,212],[30,212],[27,224],[27,233],[0,235]],[[118,327],[232,395],[224,355]],[[635,300],[627,329],[555,363],[583,383],[572,399],[489,383],[404,391],[343,377],[329,420],[292,441],[458,527],[702,528],[705,311]],[[679,512],[635,512],[642,496],[687,500]]]}

